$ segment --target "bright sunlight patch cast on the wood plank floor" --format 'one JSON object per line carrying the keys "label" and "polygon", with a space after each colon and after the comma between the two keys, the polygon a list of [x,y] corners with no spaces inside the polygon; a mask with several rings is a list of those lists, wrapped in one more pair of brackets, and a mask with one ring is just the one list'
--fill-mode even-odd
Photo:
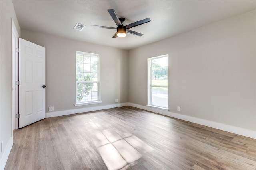
{"label": "bright sunlight patch cast on the wood plank floor", "polygon": [[126,169],[153,148],[128,131],[105,129],[94,133],[97,147],[108,170]]}

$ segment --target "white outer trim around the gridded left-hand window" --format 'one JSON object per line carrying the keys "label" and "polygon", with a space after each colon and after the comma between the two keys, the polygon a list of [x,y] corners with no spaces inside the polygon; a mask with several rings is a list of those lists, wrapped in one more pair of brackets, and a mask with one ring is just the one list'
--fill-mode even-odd
{"label": "white outer trim around the gridded left-hand window", "polygon": [[[91,56],[97,56],[98,57],[98,81],[90,81],[91,83],[97,83],[98,86],[97,86],[97,99],[98,100],[94,100],[94,101],[88,101],[88,102],[78,102],[77,101],[77,83],[78,82],[81,82],[81,81],[75,81],[76,83],[76,103],[74,104],[74,106],[83,106],[83,105],[90,105],[90,104],[99,104],[99,103],[102,103],[102,101],[100,100],[101,99],[101,95],[100,95],[100,54],[95,54],[95,53],[87,53],[87,52],[83,52],[83,51],[76,51],[76,55],[77,54],[83,54],[83,55],[91,55]],[[76,59],[76,64],[77,64],[77,59]],[[75,67],[75,69],[77,69]],[[76,70],[75,70],[75,73],[76,73]],[[75,80],[76,80],[76,76],[75,76]],[[84,81],[82,81],[84,82]]]}

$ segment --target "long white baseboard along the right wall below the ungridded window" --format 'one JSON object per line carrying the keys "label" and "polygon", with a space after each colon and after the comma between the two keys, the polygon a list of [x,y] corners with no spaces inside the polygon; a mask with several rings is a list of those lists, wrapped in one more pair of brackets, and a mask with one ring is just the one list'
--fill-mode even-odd
{"label": "long white baseboard along the right wall below the ungridded window", "polygon": [[226,125],[226,124],[223,124],[223,123],[208,121],[208,120],[204,120],[204,119],[200,119],[200,118],[196,118],[196,117],[191,117],[191,116],[187,116],[187,115],[181,115],[181,114],[178,114],[178,113],[172,113],[172,112],[164,111],[164,110],[160,110],[160,109],[154,109],[152,107],[142,106],[142,105],[138,105],[138,104],[134,104],[134,103],[128,103],[128,105],[132,106],[132,107],[137,107],[139,109],[144,109],[144,110],[147,110],[147,111],[152,111],[152,112],[155,112],[155,113],[158,113],[158,114],[161,114],[161,115],[166,115],[166,116],[174,117],[174,118],[185,120],[185,121],[190,121],[192,123],[197,123],[197,124],[200,124],[200,125],[212,127],[212,128],[215,128],[215,129],[219,129],[219,130],[222,130],[222,131],[227,131],[227,132],[231,132],[231,133],[235,133],[235,134],[238,134],[238,135],[242,135],[242,136],[246,136],[246,137],[256,139],[256,131],[244,129],[244,128],[241,128],[241,127]]}

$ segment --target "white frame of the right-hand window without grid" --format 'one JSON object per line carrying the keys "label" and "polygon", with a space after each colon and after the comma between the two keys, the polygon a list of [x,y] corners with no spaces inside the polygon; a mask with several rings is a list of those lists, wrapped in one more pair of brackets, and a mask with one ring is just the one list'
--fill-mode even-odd
{"label": "white frame of the right-hand window without grid", "polygon": [[[152,60],[163,58],[163,57],[167,57],[167,62],[168,62],[168,55],[167,54],[148,58],[148,87],[147,87],[148,88],[148,104],[146,106],[156,108],[156,109],[161,109],[161,110],[164,110],[164,111],[169,111],[169,109],[168,109],[168,97],[167,97],[167,107],[152,105],[152,92],[151,92],[152,87],[165,87],[165,88],[167,88],[167,96],[168,96],[168,84],[167,84],[167,86],[152,85],[152,69],[151,69],[152,68],[151,67]],[[167,81],[168,81],[168,64],[167,64]]]}

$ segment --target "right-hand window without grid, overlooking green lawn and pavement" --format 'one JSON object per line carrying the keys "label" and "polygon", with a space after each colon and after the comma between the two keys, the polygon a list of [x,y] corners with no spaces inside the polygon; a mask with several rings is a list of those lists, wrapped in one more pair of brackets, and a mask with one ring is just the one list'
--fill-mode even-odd
{"label": "right-hand window without grid, overlooking green lawn and pavement", "polygon": [[168,110],[168,56],[148,59],[148,105]]}

